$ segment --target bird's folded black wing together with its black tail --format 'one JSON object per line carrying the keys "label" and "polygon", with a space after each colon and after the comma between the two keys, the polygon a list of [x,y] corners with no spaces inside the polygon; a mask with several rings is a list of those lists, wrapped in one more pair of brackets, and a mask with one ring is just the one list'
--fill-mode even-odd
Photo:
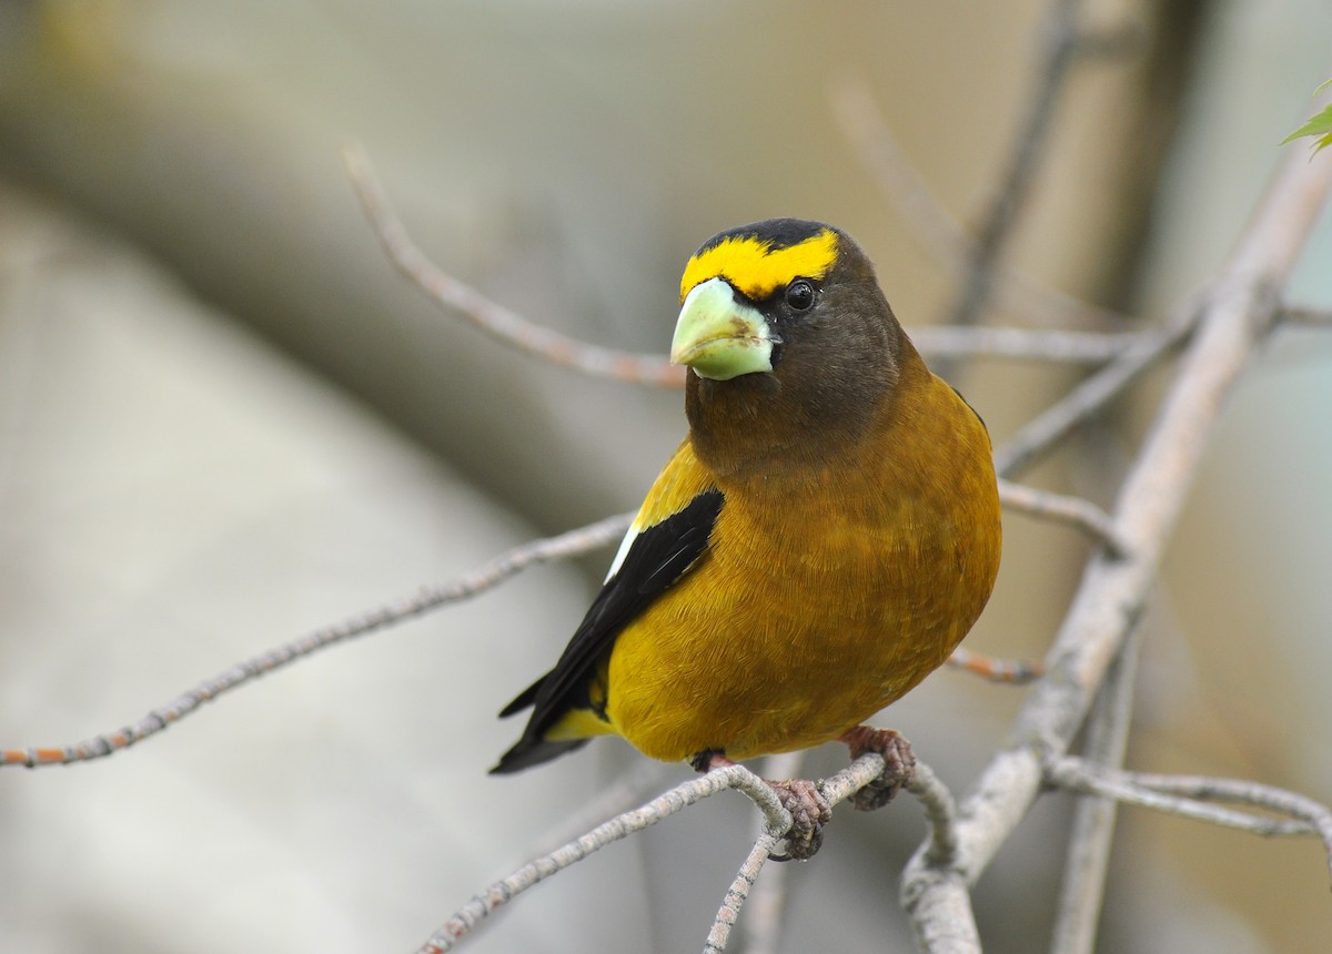
{"label": "bird's folded black wing together with its black tail", "polygon": [[722,502],[719,490],[699,494],[685,510],[634,538],[625,561],[597,593],[555,668],[501,709],[503,717],[535,707],[522,737],[490,769],[493,774],[538,765],[587,741],[546,741],[542,736],[570,709],[591,708],[589,687],[597,664],[619,631],[703,555]]}

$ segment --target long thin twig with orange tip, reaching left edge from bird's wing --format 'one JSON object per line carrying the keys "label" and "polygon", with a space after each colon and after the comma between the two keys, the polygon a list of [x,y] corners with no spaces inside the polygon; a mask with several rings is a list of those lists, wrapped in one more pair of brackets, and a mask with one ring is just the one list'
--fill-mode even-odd
{"label": "long thin twig with orange tip, reaching left edge from bird's wing", "polygon": [[32,769],[47,765],[85,762],[115,754],[136,742],[141,742],[149,736],[157,734],[173,722],[178,722],[204,703],[210,703],[222,693],[238,689],[242,685],[253,683],[260,676],[276,672],[320,649],[326,649],[357,636],[365,636],[377,629],[421,616],[448,603],[476,596],[533,564],[578,556],[614,543],[623,536],[633,516],[633,514],[621,514],[619,516],[610,516],[558,536],[530,540],[501,554],[452,583],[424,588],[414,596],[404,597],[378,609],[372,609],[341,623],[316,629],[290,643],[284,643],[274,649],[233,665],[230,669],[213,676],[213,679],[200,683],[193,689],[181,693],[166,705],[153,709],[144,718],[133,725],[127,725],[119,732],[108,732],[87,741],[60,748],[0,749],[0,766],[24,765]]}

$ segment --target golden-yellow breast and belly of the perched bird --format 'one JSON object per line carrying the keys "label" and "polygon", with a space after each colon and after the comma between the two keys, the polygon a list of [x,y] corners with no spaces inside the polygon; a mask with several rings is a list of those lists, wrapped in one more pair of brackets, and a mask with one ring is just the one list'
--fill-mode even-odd
{"label": "golden-yellow breast and belly of the perched bird", "polygon": [[[999,502],[984,426],[938,378],[919,391],[818,474],[722,486],[703,557],[615,640],[613,730],[662,760],[807,748],[948,657],[994,585]],[[649,499],[709,483],[686,442]]]}

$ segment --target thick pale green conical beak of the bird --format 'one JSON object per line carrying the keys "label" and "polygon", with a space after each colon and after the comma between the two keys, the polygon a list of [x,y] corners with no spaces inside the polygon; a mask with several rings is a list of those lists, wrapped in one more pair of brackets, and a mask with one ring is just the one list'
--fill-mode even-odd
{"label": "thick pale green conical beak of the bird", "polygon": [[773,334],[767,319],[735,301],[725,278],[709,278],[685,295],[670,343],[673,365],[687,365],[699,378],[730,381],[773,370]]}

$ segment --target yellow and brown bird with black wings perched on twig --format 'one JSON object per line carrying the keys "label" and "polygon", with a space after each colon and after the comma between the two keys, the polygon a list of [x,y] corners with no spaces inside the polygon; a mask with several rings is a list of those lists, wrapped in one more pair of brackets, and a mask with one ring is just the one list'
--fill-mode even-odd
{"label": "yellow and brown bird with black wings perched on twig", "polygon": [[698,770],[842,740],[908,772],[906,740],[866,720],[942,665],[990,599],[1002,531],[984,422],[838,228],[722,232],[679,295],[689,432],[555,665],[501,711],[531,715],[492,773],[603,734]]}

